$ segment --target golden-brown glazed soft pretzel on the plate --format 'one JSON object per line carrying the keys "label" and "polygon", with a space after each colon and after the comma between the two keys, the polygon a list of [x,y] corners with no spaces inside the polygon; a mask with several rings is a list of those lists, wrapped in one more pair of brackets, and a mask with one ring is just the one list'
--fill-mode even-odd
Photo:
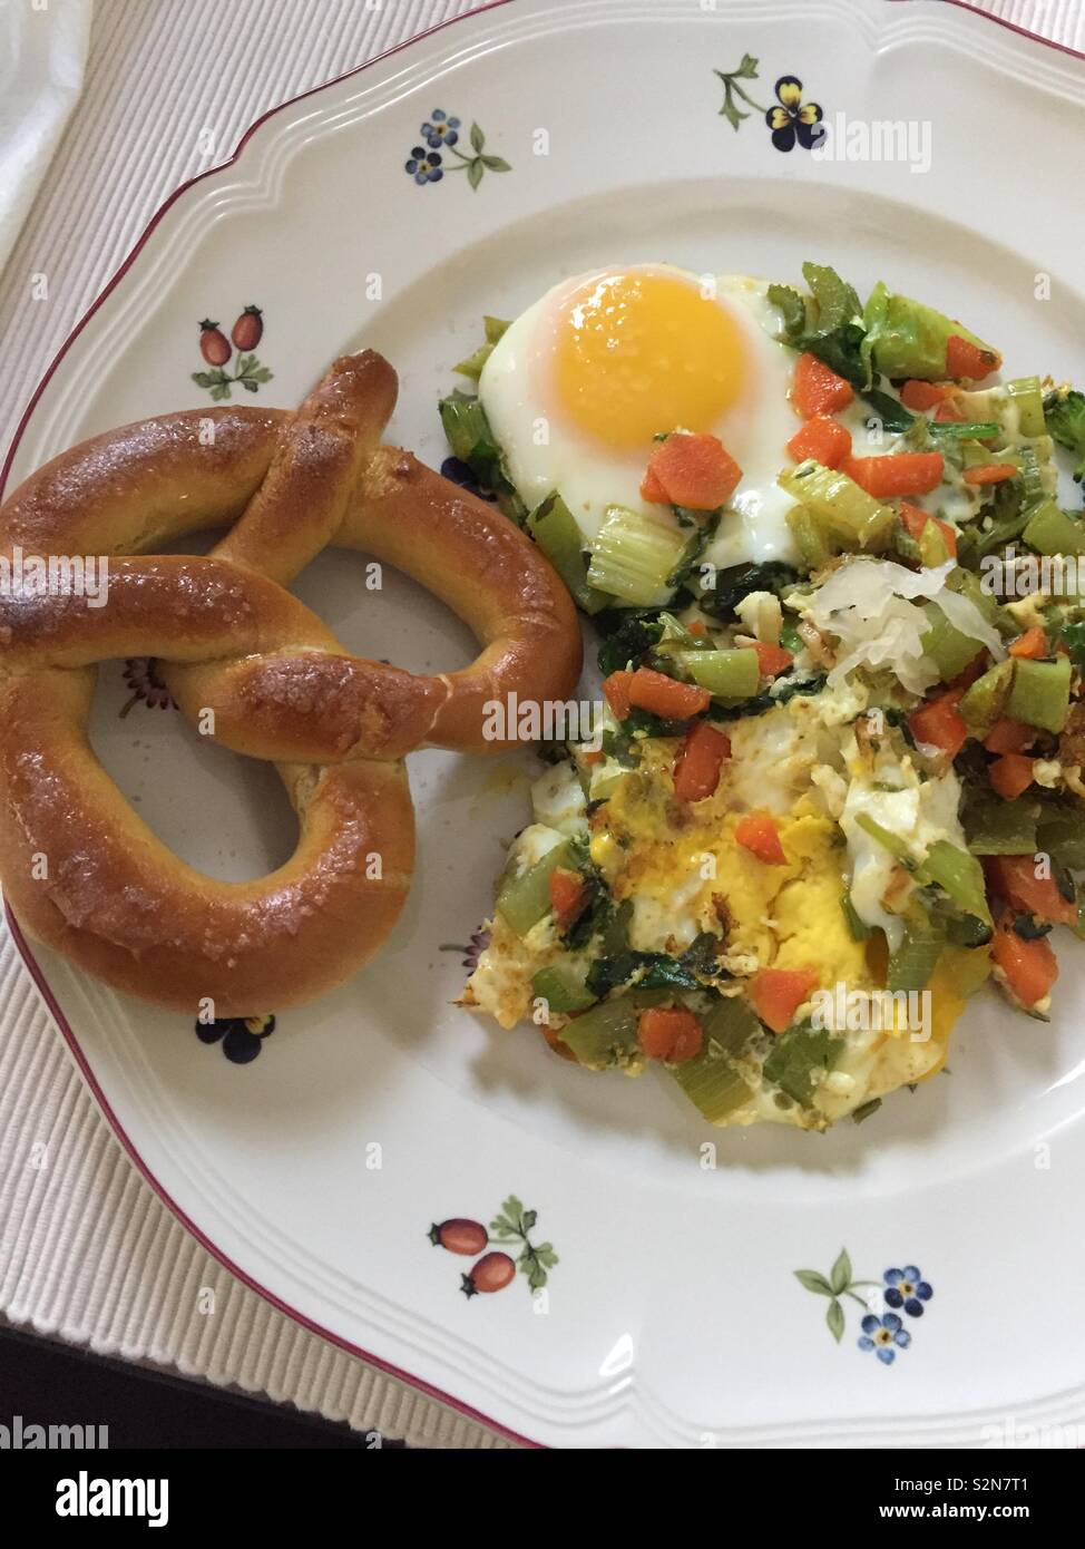
{"label": "golden-brown glazed soft pretzel on the plate", "polygon": [[[0,598],[0,875],[29,932],[167,1005],[251,1015],[341,982],[410,883],[401,764],[423,744],[491,750],[486,700],[565,699],[576,613],[539,550],[486,502],[381,446],[396,380],[347,356],[296,415],[189,410],[84,441],[0,507],[0,553],[108,555],[108,601]],[[206,558],[136,558],[207,527]],[[427,586],[477,661],[435,677],[367,661],[283,587],[327,544]],[[113,558],[121,556],[121,558]],[[221,883],[136,816],[87,742],[93,665],[153,655],[190,717],[274,759],[299,815],[291,860]]]}

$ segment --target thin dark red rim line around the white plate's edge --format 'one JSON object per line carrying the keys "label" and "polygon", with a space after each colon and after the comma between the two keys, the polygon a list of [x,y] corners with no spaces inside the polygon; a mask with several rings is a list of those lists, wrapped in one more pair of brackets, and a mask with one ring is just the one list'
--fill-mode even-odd
{"label": "thin dark red rim line around the white plate's edge", "polygon": [[[31,393],[29,401],[26,403],[26,407],[23,409],[23,414],[22,414],[22,417],[19,420],[15,432],[14,432],[14,435],[11,438],[11,445],[8,446],[8,452],[6,452],[5,460],[3,460],[3,468],[0,468],[0,499],[3,499],[3,493],[5,493],[6,483],[8,483],[8,476],[11,472],[11,465],[14,462],[14,459],[15,459],[15,454],[19,451],[19,445],[20,445],[20,441],[23,438],[26,426],[29,424],[29,418],[31,418],[34,409],[37,407],[37,403],[39,403],[39,400],[42,397],[42,393],[48,387],[50,381],[53,380],[54,372],[60,366],[60,361],[65,358],[65,355],[68,353],[68,350],[71,349],[71,345],[74,344],[74,341],[79,338],[79,335],[82,333],[82,330],[87,327],[87,324],[90,322],[90,319],[94,316],[94,313],[98,311],[98,308],[105,302],[105,299],[113,293],[113,290],[121,282],[121,279],[128,273],[128,270],[132,268],[132,265],[135,263],[135,260],[139,257],[139,254],[141,254],[142,248],[145,246],[147,240],[150,239],[152,232],[158,226],[159,220],[166,215],[166,212],[176,203],[176,200],[183,194],[186,194],[197,183],[203,181],[203,178],[212,177],[214,173],[221,172],[223,169],[234,166],[237,163],[238,156],[241,155],[241,152],[245,150],[246,144],[249,143],[249,139],[255,133],[255,130],[260,129],[260,125],[265,124],[268,119],[274,118],[276,113],[282,113],[285,108],[293,107],[296,102],[302,102],[306,98],[316,96],[319,91],[325,91],[327,88],[337,85],[341,81],[347,81],[351,76],[361,74],[362,70],[368,70],[371,65],[378,65],[378,64],[384,62],[385,59],[390,59],[393,54],[398,54],[402,50],[410,48],[413,43],[421,42],[426,37],[433,37],[436,33],[443,33],[446,28],[455,26],[457,22],[464,22],[464,20],[469,20],[472,17],[478,17],[478,15],[484,14],[486,11],[497,11],[498,8],[511,5],[511,3],[512,3],[512,0],[489,0],[489,3],[477,6],[474,11],[466,11],[463,15],[450,17],[446,22],[440,22],[436,26],[427,28],[424,33],[416,33],[412,37],[404,39],[401,43],[396,43],[393,48],[388,48],[384,53],[376,54],[373,59],[365,60],[365,64],[356,65],[353,70],[345,70],[342,74],[334,76],[331,81],[325,81],[325,82],[322,82],[317,87],[311,87],[308,91],[302,91],[297,96],[288,98],[285,102],[280,102],[277,107],[268,108],[266,113],[262,113],[260,118],[257,118],[245,130],[245,133],[241,135],[240,141],[237,143],[237,149],[234,150],[232,156],[229,156],[229,160],[217,163],[214,167],[207,167],[204,172],[198,172],[193,178],[189,178],[186,183],[181,183],[169,195],[169,198],[166,198],[163,201],[163,204],[159,204],[159,208],[150,217],[147,226],[144,228],[144,231],[138,237],[138,240],[136,240],[135,246],[132,248],[132,251],[128,252],[128,256],[124,259],[124,262],[116,270],[116,273],[108,279],[108,282],[105,283],[105,287],[102,288],[102,291],[99,293],[99,296],[91,302],[91,305],[87,308],[87,311],[84,313],[84,316],[79,319],[79,322],[74,325],[74,328],[71,330],[71,333],[67,336],[67,339],[63,341],[63,344],[60,345],[60,349],[54,355],[53,361],[50,362],[48,369],[45,370],[45,375],[42,376],[42,380],[39,381],[37,387]],[[887,3],[901,5],[901,3],[907,3],[907,0],[887,0]],[[946,0],[946,3],[955,6],[955,8],[961,9],[961,11],[970,11],[974,15],[986,17],[989,22],[995,22],[998,26],[1003,26],[1008,31],[1015,33],[1018,37],[1029,37],[1029,39],[1032,39],[1037,43],[1043,43],[1048,48],[1054,48],[1059,53],[1070,54],[1074,59],[1085,59],[1085,53],[1080,53],[1079,50],[1071,48],[1066,43],[1057,43],[1057,42],[1054,42],[1049,37],[1042,37],[1039,33],[1031,33],[1028,28],[1023,28],[1023,26],[1017,25],[1015,22],[1009,22],[1005,17],[992,15],[989,11],[983,11],[978,6],[970,5],[969,0]],[[525,1447],[543,1447],[545,1445],[542,1442],[532,1441],[529,1436],[522,1436],[519,1431],[511,1430],[508,1425],[503,1425],[500,1420],[491,1419],[491,1416],[483,1414],[480,1410],[475,1410],[472,1405],[466,1403],[463,1399],[457,1399],[454,1394],[444,1393],[441,1388],[436,1388],[433,1383],[426,1382],[421,1377],[416,1377],[413,1372],[404,1371],[402,1368],[395,1366],[392,1362],[387,1362],[387,1360],[381,1358],[379,1355],[375,1355],[371,1351],[365,1351],[361,1346],[353,1345],[350,1340],[342,1338],[337,1334],[333,1334],[330,1329],[322,1327],[319,1323],[314,1323],[311,1318],[305,1317],[305,1314],[299,1312],[296,1307],[291,1307],[288,1303],[285,1303],[279,1297],[276,1297],[274,1292],[268,1290],[258,1281],[252,1279],[238,1264],[235,1264],[231,1258],[228,1258],[228,1255],[223,1253],[223,1250],[220,1247],[217,1247],[217,1244],[214,1244],[207,1236],[204,1236],[204,1233],[200,1230],[200,1227],[184,1213],[184,1210],[181,1210],[181,1207],[176,1204],[176,1200],[173,1200],[170,1197],[170,1194],[166,1191],[166,1188],[161,1185],[161,1182],[150,1171],[150,1168],[144,1162],[142,1156],[136,1149],[135,1143],[132,1142],[130,1135],[127,1134],[127,1131],[121,1125],[118,1115],[113,1112],[113,1109],[111,1109],[111,1106],[110,1106],[105,1094],[102,1092],[101,1086],[98,1084],[98,1080],[94,1078],[93,1070],[90,1069],[90,1064],[87,1063],[85,1055],[82,1053],[82,1049],[79,1047],[79,1041],[77,1041],[74,1032],[71,1030],[71,1027],[70,1027],[70,1024],[68,1024],[63,1011],[60,1010],[60,1007],[59,1007],[59,1004],[57,1004],[57,1001],[56,1001],[56,998],[54,998],[50,985],[48,985],[48,982],[45,979],[45,974],[42,973],[42,968],[40,968],[37,959],[34,957],[34,953],[31,951],[31,946],[26,942],[26,937],[23,936],[23,932],[22,932],[22,929],[19,926],[19,922],[15,920],[15,917],[14,917],[14,914],[12,914],[12,911],[11,911],[11,908],[9,908],[9,905],[8,905],[6,900],[5,900],[5,915],[6,915],[6,920],[8,920],[8,928],[11,931],[11,937],[14,940],[14,943],[15,943],[15,948],[17,948],[20,957],[23,959],[23,963],[26,965],[26,970],[28,970],[31,979],[34,981],[34,984],[36,984],[36,987],[37,987],[42,999],[45,1001],[45,1004],[46,1004],[46,1007],[50,1010],[50,1015],[53,1016],[54,1022],[60,1029],[60,1032],[62,1032],[62,1035],[63,1035],[63,1038],[65,1038],[65,1041],[67,1041],[67,1044],[68,1044],[68,1047],[70,1047],[70,1050],[71,1050],[71,1053],[74,1056],[74,1061],[76,1061],[76,1064],[77,1064],[77,1067],[79,1067],[79,1070],[82,1073],[84,1081],[87,1083],[87,1086],[93,1092],[94,1100],[96,1100],[98,1106],[101,1108],[102,1114],[105,1115],[105,1118],[107,1118],[110,1128],[113,1129],[115,1135],[118,1137],[118,1140],[124,1146],[124,1149],[128,1154],[128,1157],[132,1159],[133,1165],[138,1168],[139,1174],[147,1180],[147,1183],[152,1187],[152,1190],[155,1191],[155,1194],[158,1194],[158,1197],[163,1200],[163,1204],[166,1205],[166,1208],[181,1222],[181,1225],[186,1228],[186,1231],[189,1231],[197,1239],[197,1242],[203,1248],[206,1248],[206,1252],[210,1253],[212,1258],[215,1258],[223,1266],[223,1269],[226,1269],[231,1275],[234,1275],[238,1281],[241,1281],[243,1286],[248,1286],[249,1290],[254,1290],[258,1297],[262,1297],[265,1301],[268,1301],[279,1312],[283,1312],[283,1314],[286,1314],[286,1317],[293,1318],[294,1323],[299,1323],[302,1327],[308,1329],[311,1334],[317,1334],[320,1338],[328,1340],[331,1345],[336,1345],[339,1349],[347,1351],[347,1354],[359,1357],[361,1360],[367,1362],[370,1366],[376,1368],[378,1371],[384,1372],[385,1376],[395,1377],[398,1382],[402,1382],[407,1386],[415,1388],[418,1393],[426,1394],[426,1397],[435,1399],[438,1403],[443,1403],[447,1408],[455,1410],[458,1414],[463,1414],[466,1419],[474,1420],[478,1425],[486,1425],[489,1430],[497,1431],[500,1436],[505,1436],[509,1441],[519,1442],[520,1445],[525,1445]]]}

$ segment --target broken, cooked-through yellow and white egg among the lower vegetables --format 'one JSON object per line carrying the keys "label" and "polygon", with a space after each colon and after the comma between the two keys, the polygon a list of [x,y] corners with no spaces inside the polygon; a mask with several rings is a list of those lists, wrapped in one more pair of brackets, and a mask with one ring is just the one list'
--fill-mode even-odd
{"label": "broken, cooked-through yellow and white egg among the lower vegetables", "polygon": [[[871,759],[870,750],[856,744],[848,709],[856,714],[839,696],[819,694],[731,723],[726,730],[732,756],[723,764],[715,793],[697,802],[675,798],[675,739],[645,739],[636,768],[611,767],[608,759],[601,774],[597,762],[579,768],[559,764],[536,784],[539,821],[517,838],[509,864],[523,874],[548,847],[579,840],[613,905],[627,906],[628,948],[673,959],[706,932],[717,937],[717,987],[724,998],[748,994],[763,968],[806,970],[819,990],[840,985],[876,996],[885,985],[885,940],[878,932],[856,939],[845,898],[854,898],[861,883],[868,895],[864,912],[892,919],[882,903],[892,892],[895,863],[892,855],[870,857],[870,836],[851,818],[868,810],[888,823],[885,802],[910,801],[916,812],[907,823],[904,813],[893,818],[896,830],[921,827],[927,841],[943,833],[953,836],[960,832],[957,788],[955,781],[953,788],[940,788],[936,779],[921,781],[907,756],[899,757],[899,748],[892,770],[885,756]],[[890,782],[899,782],[899,796],[885,790]],[[591,798],[596,784],[605,787],[605,799]],[[768,864],[738,843],[735,830],[751,810],[775,816],[786,864]],[[560,959],[587,971],[599,953],[594,940],[571,954],[553,917],[520,937],[498,914],[469,981],[466,1004],[512,1027],[536,1013],[531,981],[540,968]],[[831,1069],[814,1072],[806,1103],[765,1080],[763,1064],[774,1046],[765,1029],[740,1061],[749,1098],[718,1121],[769,1120],[823,1129],[899,1086],[933,1075],[944,1063],[967,993],[986,971],[986,953],[946,948],[929,984],[921,1036],[899,1007],[884,1022],[875,1018],[875,1025],[834,1024],[831,1036],[842,1039],[842,1047]],[[809,1015],[808,1001],[797,1008],[796,1022]],[[551,1011],[546,1021],[553,1038],[570,1018]],[[628,1073],[638,1070],[635,1064]]]}

